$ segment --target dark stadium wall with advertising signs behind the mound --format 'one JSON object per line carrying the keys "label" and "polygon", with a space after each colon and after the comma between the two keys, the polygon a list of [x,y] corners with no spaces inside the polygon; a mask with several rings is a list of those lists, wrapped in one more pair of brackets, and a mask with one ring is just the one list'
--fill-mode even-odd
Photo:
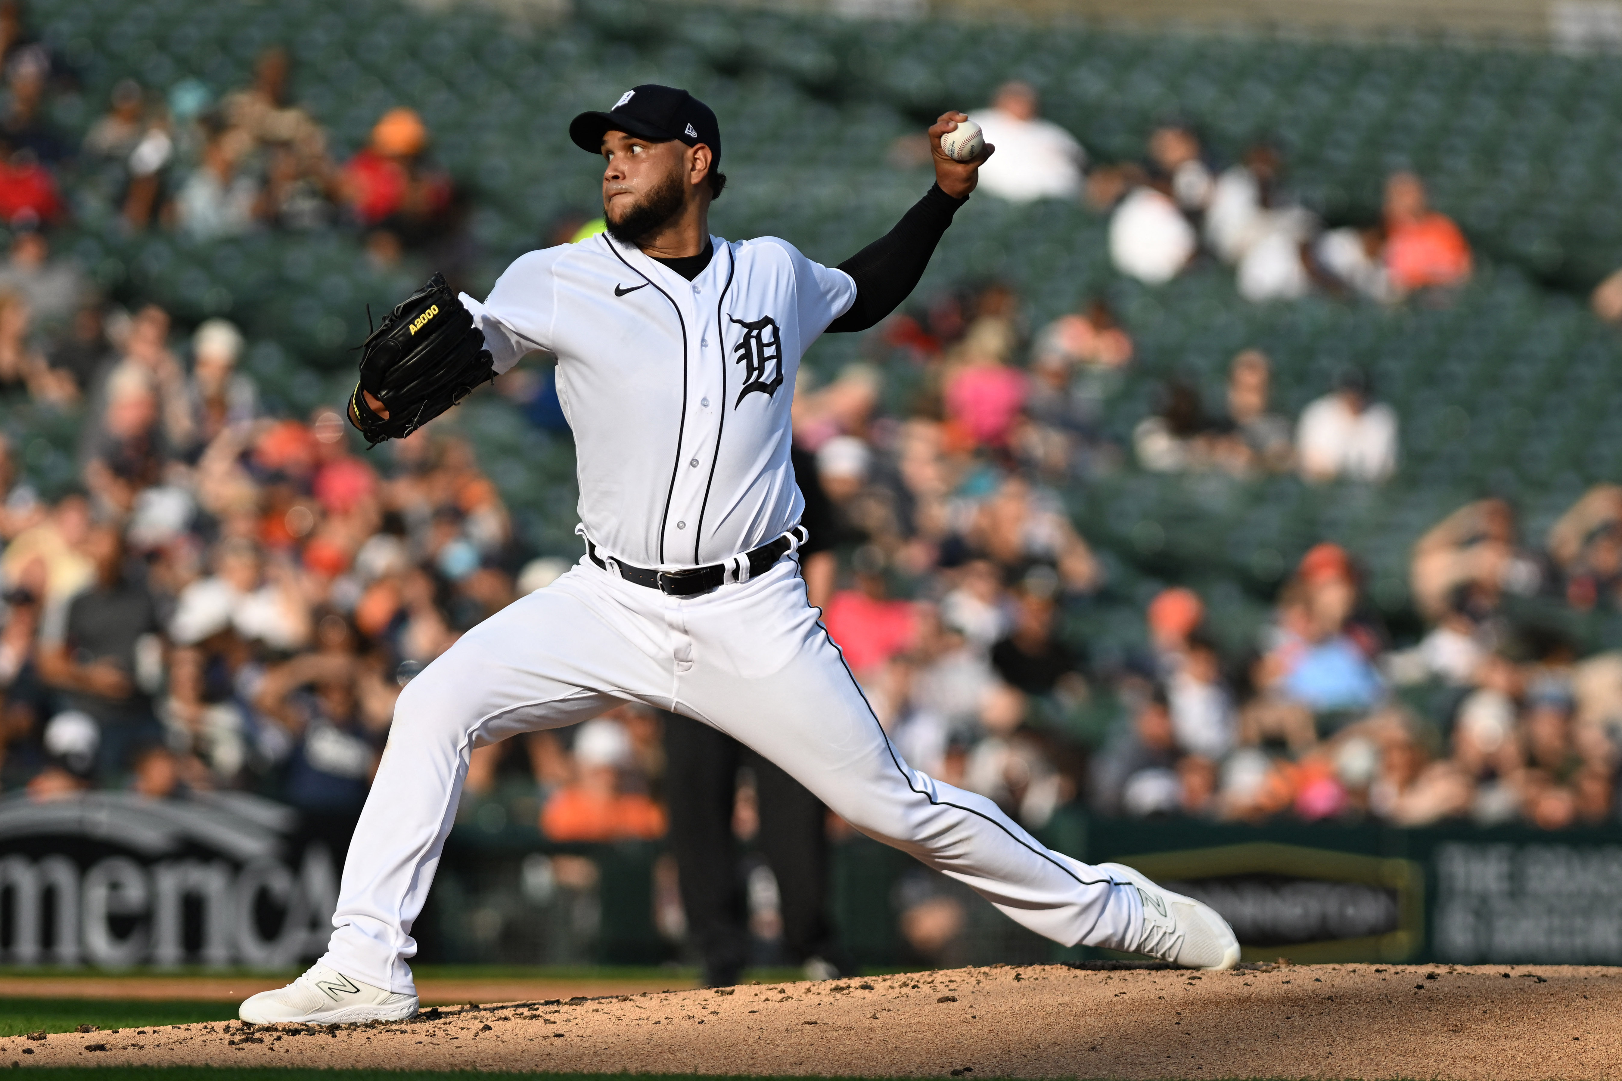
{"label": "dark stadium wall with advertising signs behind the mound", "polygon": [[[284,968],[320,955],[349,823],[248,796],[0,801],[0,963]],[[1048,841],[1129,862],[1221,911],[1247,959],[1622,964],[1622,830],[1113,822]],[[782,964],[775,885],[744,854],[757,961]],[[866,838],[835,844],[832,909],[861,966],[1074,961],[965,888]],[[457,827],[422,959],[660,964],[683,956],[659,843],[553,844]]]}

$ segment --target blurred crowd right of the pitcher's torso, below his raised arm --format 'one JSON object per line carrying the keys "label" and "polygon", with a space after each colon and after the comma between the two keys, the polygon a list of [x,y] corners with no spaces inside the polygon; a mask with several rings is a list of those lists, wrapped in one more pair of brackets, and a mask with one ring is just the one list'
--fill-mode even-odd
{"label": "blurred crowd right of the pitcher's torso, below his raised arm", "polygon": [[[1131,334],[1093,300],[1027,335],[993,285],[884,335],[902,415],[856,365],[800,387],[796,441],[855,545],[826,622],[908,762],[1033,828],[1069,799],[1246,822],[1614,820],[1622,653],[1580,658],[1528,606],[1622,601],[1622,488],[1586,493],[1541,545],[1500,499],[1435,523],[1413,549],[1422,635],[1406,648],[1356,554],[1320,543],[1247,648],[1220,650],[1204,600],[1168,588],[1137,655],[1090,664],[1064,622],[1106,585],[1103,561],[1059,488],[1109,452],[1088,418],[1132,363]],[[1377,481],[1397,465],[1395,417],[1358,371],[1294,426],[1268,410],[1257,350],[1233,360],[1223,421],[1191,394],[1173,386],[1134,429],[1144,468]],[[1103,741],[1074,723],[1093,702],[1119,710]]]}

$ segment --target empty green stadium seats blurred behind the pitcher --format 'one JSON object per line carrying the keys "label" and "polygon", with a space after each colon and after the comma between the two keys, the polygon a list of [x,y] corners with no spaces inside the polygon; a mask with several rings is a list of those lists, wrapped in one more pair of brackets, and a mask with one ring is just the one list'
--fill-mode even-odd
{"label": "empty green stadium seats blurred behind the pitcher", "polygon": [[[478,5],[428,13],[396,0],[55,0],[32,11],[83,83],[81,97],[58,107],[76,130],[120,78],[167,89],[191,76],[219,94],[243,84],[272,44],[292,52],[294,92],[339,156],[384,109],[417,107],[435,152],[475,196],[483,285],[558,216],[592,209],[599,165],[566,143],[564,122],[637,81],[689,86],[720,113],[732,185],[715,207],[719,232],[783,235],[824,261],[881,233],[928,186],[926,170],[887,164],[890,143],[946,107],[983,104],[1009,76],[1033,81],[1046,112],[1098,160],[1140,156],[1166,118],[1197,125],[1218,160],[1272,139],[1288,185],[1332,222],[1374,220],[1385,173],[1419,170],[1481,256],[1478,279],[1447,306],[1322,297],[1251,306],[1213,266],[1145,288],[1113,276],[1105,222],[1082,207],[981,198],[959,217],[921,293],[1001,277],[1020,290],[1032,326],[1090,293],[1121,311],[1140,360],[1108,408],[1119,442],[1169,373],[1220,405],[1228,360],[1247,345],[1273,357],[1280,410],[1298,412],[1356,363],[1401,417],[1403,465],[1377,491],[1131,467],[1077,483],[1067,493],[1075,519],[1113,574],[1072,613],[1071,630],[1095,658],[1119,658],[1140,639],[1142,603],[1171,580],[1202,588],[1225,645],[1242,648],[1280,574],[1325,538],[1358,551],[1382,608],[1398,613],[1413,540],[1458,502],[1505,494],[1541,535],[1585,485],[1622,478],[1622,441],[1607,423],[1622,404],[1617,340],[1572,292],[1622,263],[1622,206],[1611,198],[1622,173],[1622,66],[1611,57],[673,11],[636,0],[594,0],[545,26]],[[68,246],[97,279],[185,323],[229,311],[255,342],[250,366],[287,408],[334,392],[345,347],[365,332],[363,305],[391,303],[425,269],[380,272],[344,233],[216,245],[128,237],[107,185],[70,180],[78,225]],[[808,363],[826,374],[860,348],[824,339]],[[469,408],[466,428],[527,536],[574,551],[568,447],[493,404]],[[1153,535],[1144,522],[1160,528],[1158,545],[1144,543]],[[1581,632],[1612,629],[1599,619]]]}

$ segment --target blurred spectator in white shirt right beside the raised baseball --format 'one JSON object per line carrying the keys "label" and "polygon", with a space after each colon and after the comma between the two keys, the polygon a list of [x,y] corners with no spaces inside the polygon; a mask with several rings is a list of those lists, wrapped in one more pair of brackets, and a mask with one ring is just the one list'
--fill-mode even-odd
{"label": "blurred spectator in white shirt right beside the raised baseball", "polygon": [[968,113],[998,152],[980,167],[980,190],[1011,203],[1074,199],[1082,191],[1087,151],[1075,136],[1036,115],[1028,83],[1004,83],[989,109]]}

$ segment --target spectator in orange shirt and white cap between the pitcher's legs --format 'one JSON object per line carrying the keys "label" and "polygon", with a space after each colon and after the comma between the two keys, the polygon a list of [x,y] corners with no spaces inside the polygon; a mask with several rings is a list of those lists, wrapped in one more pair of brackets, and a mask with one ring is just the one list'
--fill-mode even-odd
{"label": "spectator in orange shirt and white cap between the pitcher's legs", "polygon": [[646,793],[626,791],[633,768],[624,724],[599,716],[574,737],[574,781],[540,812],[540,830],[553,841],[650,841],[665,835],[665,812]]}

